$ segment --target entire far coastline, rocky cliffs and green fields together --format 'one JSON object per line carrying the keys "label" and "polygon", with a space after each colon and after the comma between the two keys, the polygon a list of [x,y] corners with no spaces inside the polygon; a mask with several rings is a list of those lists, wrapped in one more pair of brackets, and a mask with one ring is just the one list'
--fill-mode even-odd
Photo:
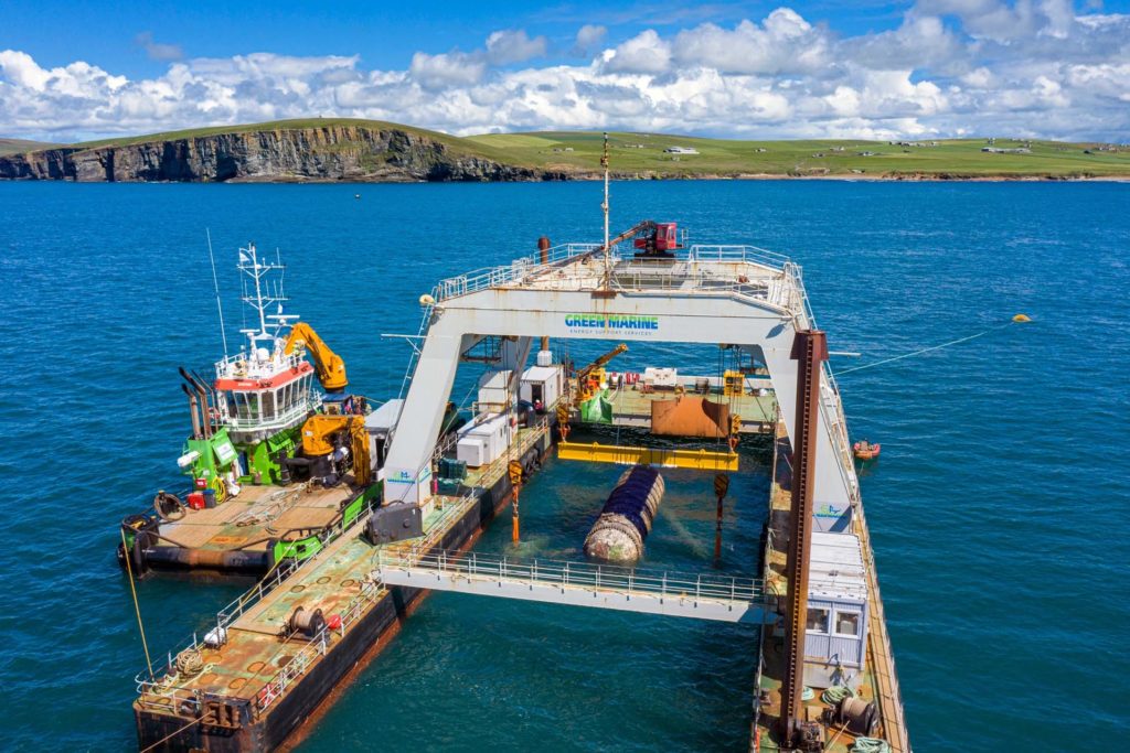
{"label": "entire far coastline, rocky cliffs and green fields together", "polygon": [[[1130,147],[994,139],[740,141],[610,133],[624,181],[1130,180]],[[0,139],[0,181],[315,183],[585,181],[602,132],[457,137],[400,123],[315,117],[73,145]]]}

